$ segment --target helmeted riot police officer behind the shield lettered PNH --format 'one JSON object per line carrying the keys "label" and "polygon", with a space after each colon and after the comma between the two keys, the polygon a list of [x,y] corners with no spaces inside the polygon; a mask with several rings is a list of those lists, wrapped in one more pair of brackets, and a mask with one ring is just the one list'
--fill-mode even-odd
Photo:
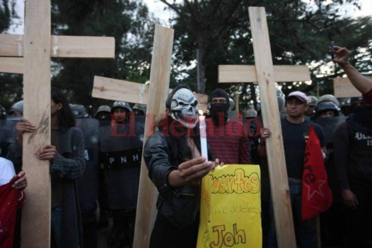
{"label": "helmeted riot police officer behind the shield lettered PNH", "polygon": [[111,125],[100,128],[100,150],[114,222],[108,246],[113,248],[133,240],[144,128],[126,102],[116,101],[111,115]]}

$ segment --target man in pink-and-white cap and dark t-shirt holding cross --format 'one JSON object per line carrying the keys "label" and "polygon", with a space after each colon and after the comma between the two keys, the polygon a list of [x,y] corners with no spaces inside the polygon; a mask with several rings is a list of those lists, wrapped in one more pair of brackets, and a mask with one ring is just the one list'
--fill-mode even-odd
{"label": "man in pink-and-white cap and dark t-shirt holding cross", "polygon": [[[288,172],[289,193],[291,205],[294,209],[295,229],[298,230],[298,241],[301,247],[317,247],[315,218],[301,220],[302,203],[302,173],[304,168],[305,144],[309,135],[310,125],[314,126],[320,139],[321,147],[325,150],[324,134],[320,126],[306,120],[304,115],[307,110],[308,97],[300,91],[294,91],[287,97],[286,108],[288,116],[281,120],[286,168]],[[259,154],[266,154],[265,141],[270,138],[271,132],[267,128],[261,130]],[[270,202],[272,211],[272,202]],[[272,218],[269,232],[269,247],[276,247],[275,223]]]}

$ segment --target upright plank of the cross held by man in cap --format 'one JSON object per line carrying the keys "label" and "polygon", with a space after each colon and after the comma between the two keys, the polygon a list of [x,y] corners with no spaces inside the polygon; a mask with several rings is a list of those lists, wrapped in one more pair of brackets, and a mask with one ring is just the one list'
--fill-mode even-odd
{"label": "upright plank of the cross held by man in cap", "polygon": [[271,195],[279,248],[295,248],[296,238],[289,197],[282,129],[276,100],[275,75],[272,65],[269,31],[264,7],[249,7],[254,60],[259,83],[263,125],[272,132],[266,140]]}

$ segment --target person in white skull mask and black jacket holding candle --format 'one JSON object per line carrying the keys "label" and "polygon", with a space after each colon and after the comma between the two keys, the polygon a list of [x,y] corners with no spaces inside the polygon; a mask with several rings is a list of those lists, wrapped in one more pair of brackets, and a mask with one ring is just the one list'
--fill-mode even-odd
{"label": "person in white skull mask and black jacket holding candle", "polygon": [[166,116],[144,147],[148,175],[159,191],[150,248],[196,247],[200,182],[214,166],[201,157],[197,104],[189,87],[174,88]]}

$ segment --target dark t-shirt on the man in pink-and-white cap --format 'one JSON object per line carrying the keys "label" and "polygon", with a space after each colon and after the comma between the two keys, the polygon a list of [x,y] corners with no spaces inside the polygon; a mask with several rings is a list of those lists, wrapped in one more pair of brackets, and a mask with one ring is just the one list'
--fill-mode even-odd
{"label": "dark t-shirt on the man in pink-and-white cap", "polygon": [[299,124],[291,123],[286,118],[282,119],[283,144],[288,177],[302,179],[306,146],[305,136],[308,137],[309,135],[310,125],[314,126],[320,146],[325,146],[323,130],[318,124],[306,119]]}

